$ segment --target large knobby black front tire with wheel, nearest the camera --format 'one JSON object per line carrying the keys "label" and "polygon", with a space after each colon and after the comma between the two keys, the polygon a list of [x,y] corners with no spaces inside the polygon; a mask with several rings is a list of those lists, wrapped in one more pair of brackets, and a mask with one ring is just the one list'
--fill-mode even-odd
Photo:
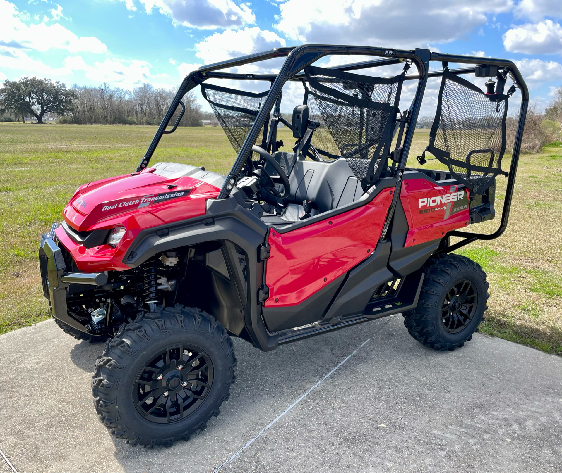
{"label": "large knobby black front tire with wheel, nearest the camera", "polygon": [[169,447],[219,415],[235,366],[232,340],[214,317],[180,305],[160,307],[121,325],[106,342],[92,376],[94,406],[115,437]]}

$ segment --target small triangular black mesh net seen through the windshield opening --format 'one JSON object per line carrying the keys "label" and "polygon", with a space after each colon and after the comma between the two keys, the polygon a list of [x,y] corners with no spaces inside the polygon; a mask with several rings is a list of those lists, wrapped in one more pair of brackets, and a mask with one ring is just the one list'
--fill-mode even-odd
{"label": "small triangular black mesh net seen through the windshield opening", "polygon": [[253,93],[214,84],[201,84],[201,93],[211,105],[230,144],[238,153],[269,90]]}

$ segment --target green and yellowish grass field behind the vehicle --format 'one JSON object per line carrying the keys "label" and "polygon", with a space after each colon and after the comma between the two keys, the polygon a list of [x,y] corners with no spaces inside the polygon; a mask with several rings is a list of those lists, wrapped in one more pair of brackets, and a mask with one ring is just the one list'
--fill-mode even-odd
{"label": "green and yellowish grass field behind the vehicle", "polygon": [[[37,263],[39,237],[79,185],[133,172],[156,127],[0,123],[0,334],[49,317]],[[291,143],[288,130],[280,137]],[[409,166],[428,143],[416,132]],[[234,160],[221,128],[178,128],[162,138],[152,162],[204,165],[226,173]],[[427,168],[443,168],[430,161]],[[509,168],[509,157],[502,166]],[[461,254],[481,264],[490,307],[481,332],[562,355],[562,148],[522,155],[507,231]],[[498,178],[496,211],[506,180]],[[493,221],[472,226],[493,232]]]}

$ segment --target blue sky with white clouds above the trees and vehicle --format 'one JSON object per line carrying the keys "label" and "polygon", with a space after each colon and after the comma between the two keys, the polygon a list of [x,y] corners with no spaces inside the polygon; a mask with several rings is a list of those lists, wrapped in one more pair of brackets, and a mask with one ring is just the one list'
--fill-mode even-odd
{"label": "blue sky with white clouds above the trees and vehicle", "polygon": [[259,50],[369,44],[514,59],[544,107],[562,84],[561,22],[562,0],[0,0],[0,80],[171,88]]}

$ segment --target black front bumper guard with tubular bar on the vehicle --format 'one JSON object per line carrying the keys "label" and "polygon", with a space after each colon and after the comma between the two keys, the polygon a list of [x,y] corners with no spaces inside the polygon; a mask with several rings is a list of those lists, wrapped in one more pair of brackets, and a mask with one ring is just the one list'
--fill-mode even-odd
{"label": "black front bumper guard with tubular bar on the vehicle", "polygon": [[104,286],[107,276],[104,273],[69,273],[62,250],[57,245],[55,230],[60,223],[53,223],[51,231],[41,236],[39,244],[39,268],[43,295],[49,300],[53,317],[61,320],[82,332],[90,332],[90,328],[74,319],[66,306],[67,288],[71,283]]}

